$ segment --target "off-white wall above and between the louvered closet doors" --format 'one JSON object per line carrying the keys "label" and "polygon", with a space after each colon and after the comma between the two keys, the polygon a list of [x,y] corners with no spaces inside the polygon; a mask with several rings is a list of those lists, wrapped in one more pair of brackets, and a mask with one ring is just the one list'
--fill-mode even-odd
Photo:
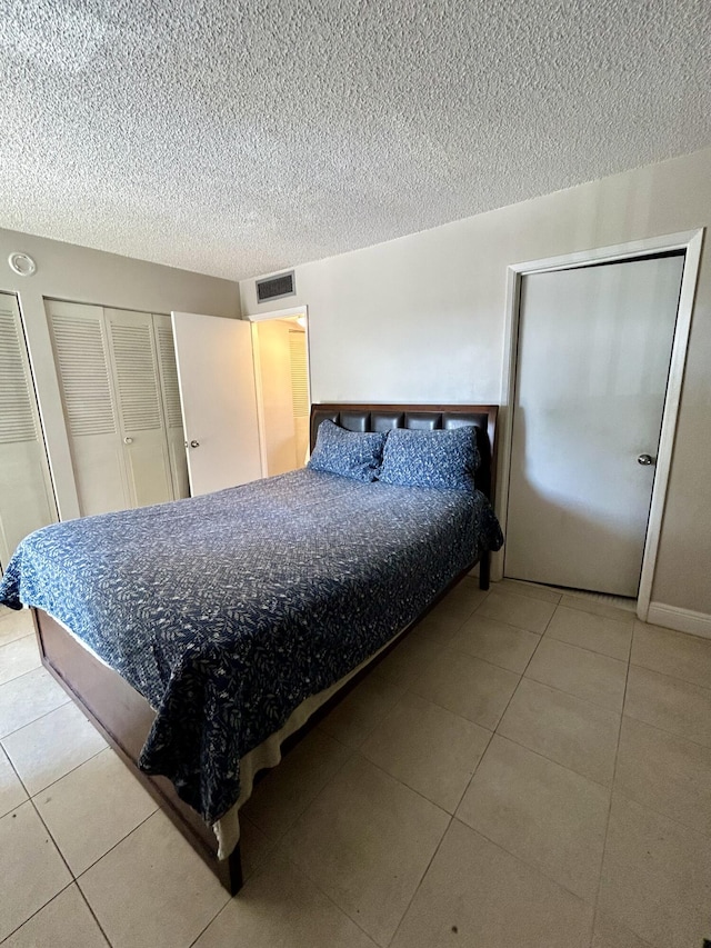
{"label": "off-white wall above and between the louvered closet doors", "polygon": [[[33,257],[37,263],[34,276],[18,277],[10,270],[8,256],[16,250]],[[50,467],[63,519],[78,517],[79,506],[43,299],[53,297],[143,312],[176,309],[227,317],[240,315],[239,288],[230,280],[2,229],[0,291],[14,292],[20,300]]]}

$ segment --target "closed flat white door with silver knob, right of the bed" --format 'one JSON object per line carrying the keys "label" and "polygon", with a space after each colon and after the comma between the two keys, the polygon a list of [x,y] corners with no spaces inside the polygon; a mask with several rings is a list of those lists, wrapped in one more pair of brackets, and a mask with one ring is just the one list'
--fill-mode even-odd
{"label": "closed flat white door with silver knob, right of the bed", "polygon": [[637,596],[682,269],[523,278],[505,576]]}

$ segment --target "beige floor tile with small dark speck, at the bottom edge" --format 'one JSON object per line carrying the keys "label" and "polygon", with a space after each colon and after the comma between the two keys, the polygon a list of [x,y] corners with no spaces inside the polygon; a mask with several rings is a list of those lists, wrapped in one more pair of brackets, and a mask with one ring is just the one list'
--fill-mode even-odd
{"label": "beige floor tile with small dark speck, at the bottom edge", "polygon": [[592,907],[453,820],[392,948],[588,948]]}

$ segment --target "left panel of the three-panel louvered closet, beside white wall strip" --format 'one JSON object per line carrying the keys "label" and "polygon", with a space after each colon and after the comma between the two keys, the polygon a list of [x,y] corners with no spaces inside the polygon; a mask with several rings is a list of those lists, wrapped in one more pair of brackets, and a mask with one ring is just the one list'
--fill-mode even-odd
{"label": "left panel of the three-panel louvered closet, beside white wall strip", "polygon": [[114,409],[103,310],[47,301],[79,509],[82,516],[131,507]]}

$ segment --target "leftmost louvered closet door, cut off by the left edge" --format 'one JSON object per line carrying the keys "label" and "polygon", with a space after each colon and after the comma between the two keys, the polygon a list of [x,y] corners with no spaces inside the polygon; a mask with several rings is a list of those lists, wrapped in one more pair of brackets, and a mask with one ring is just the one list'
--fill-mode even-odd
{"label": "leftmost louvered closet door, cut off by the left edge", "polygon": [[57,520],[17,299],[0,293],[0,565]]}

